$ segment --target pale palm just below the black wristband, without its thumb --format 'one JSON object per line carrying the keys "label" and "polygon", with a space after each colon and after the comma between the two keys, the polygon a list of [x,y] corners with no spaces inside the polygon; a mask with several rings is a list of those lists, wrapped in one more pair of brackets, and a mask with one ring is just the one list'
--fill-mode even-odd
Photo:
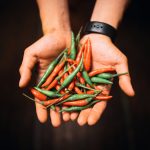
{"label": "pale palm just below the black wristband, without its thumb", "polygon": [[99,35],[91,35],[90,38],[92,43],[93,70],[102,67],[115,67],[124,57],[110,39],[101,40],[100,38]]}

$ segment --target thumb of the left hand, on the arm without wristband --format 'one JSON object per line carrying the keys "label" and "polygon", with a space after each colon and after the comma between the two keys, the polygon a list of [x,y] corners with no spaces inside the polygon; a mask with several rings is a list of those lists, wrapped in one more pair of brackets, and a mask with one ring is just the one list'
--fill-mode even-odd
{"label": "thumb of the left hand, on the arm without wristband", "polygon": [[27,48],[24,52],[23,61],[19,69],[20,72],[19,87],[23,88],[29,83],[32,75],[32,69],[36,63],[37,57],[31,51],[31,48]]}

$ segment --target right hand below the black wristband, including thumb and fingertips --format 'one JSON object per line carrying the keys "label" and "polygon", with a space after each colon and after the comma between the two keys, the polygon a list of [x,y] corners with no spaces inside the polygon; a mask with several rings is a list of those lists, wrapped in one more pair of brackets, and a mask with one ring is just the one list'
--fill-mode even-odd
{"label": "right hand below the black wristband, including thumb and fingertips", "polygon": [[[90,38],[92,45],[92,70],[114,67],[117,73],[129,72],[127,57],[111,42],[110,38],[100,34],[89,34],[82,38],[81,43]],[[122,75],[119,77],[119,85],[121,89],[128,95],[134,96],[134,90],[131,85],[130,75]],[[108,90],[109,92],[109,90]],[[78,124],[94,125],[101,117],[106,107],[106,102],[102,101],[80,112]],[[77,113],[72,113],[71,118],[76,119]]]}

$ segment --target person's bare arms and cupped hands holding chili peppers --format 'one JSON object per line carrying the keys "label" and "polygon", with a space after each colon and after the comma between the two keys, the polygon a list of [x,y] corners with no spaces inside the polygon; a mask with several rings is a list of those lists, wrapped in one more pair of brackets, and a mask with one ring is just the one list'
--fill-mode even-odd
{"label": "person's bare arms and cupped hands holding chili peppers", "polygon": [[[23,61],[20,66],[21,88],[27,86],[31,79],[32,69],[38,64],[38,79],[40,79],[47,69],[49,63],[58,54],[70,47],[71,26],[69,20],[69,10],[67,0],[37,0],[40,18],[42,23],[43,37],[25,49]],[[107,23],[118,28],[123,17],[123,13],[128,4],[128,0],[96,0],[91,21]],[[127,57],[114,45],[110,37],[102,34],[91,33],[84,35],[81,43],[90,38],[92,45],[93,68],[113,66],[117,73],[129,72]],[[134,96],[130,75],[119,77],[119,85],[128,96]],[[102,101],[78,113],[64,112],[64,121],[75,120],[80,126],[94,125],[101,117],[106,108],[106,102]],[[54,127],[61,124],[61,116],[58,112],[50,110],[51,123]],[[48,114],[43,107],[36,103],[36,113],[40,122],[47,120]]]}

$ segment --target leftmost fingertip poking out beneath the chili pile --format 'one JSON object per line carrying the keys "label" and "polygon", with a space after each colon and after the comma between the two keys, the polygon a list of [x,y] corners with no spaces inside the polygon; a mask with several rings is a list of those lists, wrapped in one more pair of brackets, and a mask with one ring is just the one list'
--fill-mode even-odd
{"label": "leftmost fingertip poking out beneath the chili pile", "polygon": [[35,103],[35,106],[36,106],[36,114],[37,114],[38,120],[41,123],[46,122],[46,120],[47,120],[47,110],[44,109],[44,107],[41,104]]}

